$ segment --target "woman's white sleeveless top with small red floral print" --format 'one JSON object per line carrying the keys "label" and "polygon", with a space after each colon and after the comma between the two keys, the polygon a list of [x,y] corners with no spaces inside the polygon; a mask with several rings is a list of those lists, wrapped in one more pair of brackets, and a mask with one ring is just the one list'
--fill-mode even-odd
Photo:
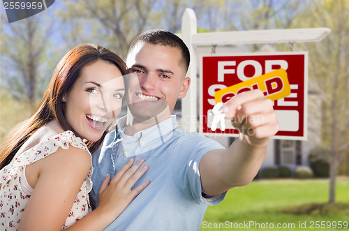
{"label": "woman's white sleeveless top with small red floral print", "polygon": [[[25,194],[21,187],[24,166],[53,154],[59,147],[68,149],[69,144],[84,149],[91,156],[89,149],[80,137],[76,137],[71,131],[65,131],[36,144],[36,146],[17,156],[9,165],[3,167],[0,171],[0,230],[17,230],[20,225],[20,219],[30,198],[30,195]],[[73,225],[89,213],[89,191],[92,188],[91,174],[92,167],[79,193],[77,193],[62,230]]]}

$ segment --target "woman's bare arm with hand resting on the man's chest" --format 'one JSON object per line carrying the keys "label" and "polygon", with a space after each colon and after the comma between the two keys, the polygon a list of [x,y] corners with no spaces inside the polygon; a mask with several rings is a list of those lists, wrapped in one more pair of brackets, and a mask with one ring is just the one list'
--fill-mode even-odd
{"label": "woman's bare arm with hand resting on the man's chest", "polygon": [[[147,170],[142,168],[134,174],[142,163],[131,167],[132,164],[132,161],[127,163],[123,167],[124,174],[119,174],[119,181],[115,179],[117,176],[114,177],[115,180],[113,179],[109,187],[107,184],[110,178],[103,181],[100,191],[102,204],[67,230],[103,230],[124,211],[135,195],[147,186],[147,182],[144,182],[142,186],[131,191],[133,184]],[[61,230],[90,170],[91,158],[82,149],[59,148],[54,154],[31,164],[30,167],[31,170],[38,170],[38,180],[18,230]]]}

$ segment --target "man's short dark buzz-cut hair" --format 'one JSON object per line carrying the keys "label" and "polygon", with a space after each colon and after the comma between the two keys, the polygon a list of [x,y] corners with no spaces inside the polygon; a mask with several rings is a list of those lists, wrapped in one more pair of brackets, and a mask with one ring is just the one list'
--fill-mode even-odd
{"label": "man's short dark buzz-cut hair", "polygon": [[128,53],[130,53],[131,50],[133,50],[133,48],[135,47],[135,45],[137,45],[140,42],[178,48],[181,51],[181,61],[186,67],[186,70],[188,70],[189,63],[191,61],[188,47],[183,42],[183,40],[181,40],[181,38],[176,36],[174,33],[171,33],[170,31],[164,31],[161,29],[145,31],[133,40],[128,50]]}

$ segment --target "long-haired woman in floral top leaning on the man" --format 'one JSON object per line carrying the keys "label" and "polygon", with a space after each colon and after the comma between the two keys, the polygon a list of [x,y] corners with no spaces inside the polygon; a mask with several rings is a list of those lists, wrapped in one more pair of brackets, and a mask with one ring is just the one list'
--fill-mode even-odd
{"label": "long-haired woman in floral top leaning on the man", "polygon": [[0,230],[102,230],[149,184],[131,191],[148,168],[131,159],[89,213],[91,153],[120,112],[123,75],[124,61],[99,45],[59,61],[36,112],[0,147]]}

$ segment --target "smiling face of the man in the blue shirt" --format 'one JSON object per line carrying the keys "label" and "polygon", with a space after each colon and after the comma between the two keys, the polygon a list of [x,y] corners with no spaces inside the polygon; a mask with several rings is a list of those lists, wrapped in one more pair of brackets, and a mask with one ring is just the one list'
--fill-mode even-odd
{"label": "smiling face of the man in the blue shirt", "polygon": [[128,81],[128,107],[134,117],[149,119],[165,110],[170,115],[177,98],[183,98],[190,79],[181,63],[178,48],[138,43],[128,54],[126,65],[133,77]]}

